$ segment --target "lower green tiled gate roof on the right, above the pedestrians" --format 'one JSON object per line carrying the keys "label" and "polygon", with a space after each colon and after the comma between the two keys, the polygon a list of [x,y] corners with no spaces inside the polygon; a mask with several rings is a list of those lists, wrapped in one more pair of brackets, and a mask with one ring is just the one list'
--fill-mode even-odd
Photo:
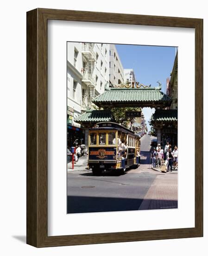
{"label": "lower green tiled gate roof on the right, above the pedestrians", "polygon": [[152,121],[177,121],[177,109],[156,109],[155,113],[151,116]]}

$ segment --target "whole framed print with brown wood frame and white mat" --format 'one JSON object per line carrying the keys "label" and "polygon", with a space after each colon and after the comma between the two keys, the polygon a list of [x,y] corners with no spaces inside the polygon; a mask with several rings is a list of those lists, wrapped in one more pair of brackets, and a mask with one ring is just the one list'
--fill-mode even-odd
{"label": "whole framed print with brown wood frame and white mat", "polygon": [[203,20],[27,13],[27,243],[203,236]]}

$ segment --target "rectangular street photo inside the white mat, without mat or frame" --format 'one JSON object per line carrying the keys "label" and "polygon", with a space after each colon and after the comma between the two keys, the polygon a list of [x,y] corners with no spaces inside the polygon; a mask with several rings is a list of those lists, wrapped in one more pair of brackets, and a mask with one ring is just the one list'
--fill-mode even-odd
{"label": "rectangular street photo inside the white mat, without mat or frame", "polygon": [[67,214],[177,209],[178,47],[66,47]]}

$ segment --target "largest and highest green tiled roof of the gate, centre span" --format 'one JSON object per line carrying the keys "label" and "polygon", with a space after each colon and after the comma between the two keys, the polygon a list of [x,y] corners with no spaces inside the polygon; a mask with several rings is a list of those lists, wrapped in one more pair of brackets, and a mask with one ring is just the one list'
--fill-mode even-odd
{"label": "largest and highest green tiled roof of the gate, centre span", "polygon": [[111,88],[104,92],[103,94],[98,95],[93,99],[93,102],[101,107],[105,105],[119,105],[122,104],[166,104],[170,106],[171,98],[161,92],[161,90],[157,88],[145,88],[145,89],[138,89],[138,88]]}

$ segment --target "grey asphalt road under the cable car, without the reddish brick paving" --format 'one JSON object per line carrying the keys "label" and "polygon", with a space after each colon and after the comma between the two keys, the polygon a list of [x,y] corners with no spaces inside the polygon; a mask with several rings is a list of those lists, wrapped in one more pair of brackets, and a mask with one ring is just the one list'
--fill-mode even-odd
{"label": "grey asphalt road under the cable car, without the reddish brick paving", "polygon": [[90,171],[69,172],[67,212],[138,210],[157,176],[148,172],[148,168],[139,171],[150,161],[150,141],[149,135],[141,138],[141,165],[138,169],[128,170],[125,175],[105,172],[101,176],[93,176]]}

